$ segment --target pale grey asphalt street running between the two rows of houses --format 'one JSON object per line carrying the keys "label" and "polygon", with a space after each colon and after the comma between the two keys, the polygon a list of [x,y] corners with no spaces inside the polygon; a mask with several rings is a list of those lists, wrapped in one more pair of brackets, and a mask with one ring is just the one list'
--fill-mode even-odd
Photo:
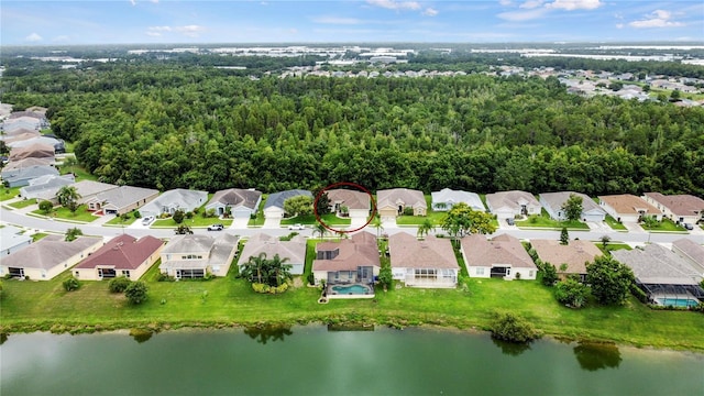
{"label": "pale grey asphalt street running between the two rows of houses", "polygon": [[[91,226],[91,224],[75,224],[69,222],[63,222],[57,220],[48,220],[36,218],[32,216],[25,216],[19,213],[14,210],[9,210],[3,207],[0,207],[0,221],[7,224],[13,224],[19,227],[24,227],[29,229],[34,229],[40,232],[57,232],[65,233],[67,229],[77,227],[79,228],[84,234],[86,235],[100,235],[100,237],[116,237],[122,233],[129,233],[130,235],[140,238],[143,235],[153,235],[156,238],[168,239],[174,235],[173,229],[147,229],[147,228],[118,228],[118,227],[105,227],[105,226]],[[376,233],[376,230],[369,227],[369,231],[372,233]],[[252,235],[257,232],[266,232],[272,235],[287,235],[290,231],[285,228],[278,229],[261,229],[261,228],[229,228],[224,231],[208,231],[206,229],[194,229],[195,233],[216,233],[216,232],[229,232],[238,235]],[[311,229],[306,229],[301,231],[297,231],[302,235],[312,235]],[[383,230],[386,234],[394,234],[397,232],[407,232],[410,234],[416,234],[417,228],[414,227],[404,227],[404,228],[393,228],[387,227]],[[438,230],[437,233],[442,233],[442,231]],[[510,229],[499,229],[496,231],[495,235],[499,235],[503,233],[510,234],[518,239],[560,239],[559,231],[546,231],[546,230],[519,230],[516,228]],[[644,232],[644,231],[628,231],[628,232],[618,232],[618,231],[570,231],[570,239],[579,238],[581,240],[590,240],[590,241],[598,241],[603,235],[610,237],[613,242],[630,242],[630,243],[646,243],[646,242],[658,242],[658,243],[671,243],[674,240],[681,238],[688,238],[693,240],[696,243],[704,244],[704,230],[697,229],[690,234],[681,234],[681,233],[662,233],[662,232]]]}

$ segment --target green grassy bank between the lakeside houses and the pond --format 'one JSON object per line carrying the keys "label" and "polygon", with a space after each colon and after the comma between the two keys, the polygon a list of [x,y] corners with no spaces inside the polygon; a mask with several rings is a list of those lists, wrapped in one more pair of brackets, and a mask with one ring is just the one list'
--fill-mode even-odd
{"label": "green grassy bank between the lakeside houses and the pond", "polygon": [[0,332],[52,331],[84,333],[123,329],[150,331],[179,328],[232,328],[262,323],[369,323],[405,328],[433,326],[487,330],[496,311],[512,311],[534,323],[543,336],[616,342],[638,348],[704,351],[704,315],[651,310],[635,299],[623,307],[560,306],[552,290],[538,282],[468,279],[458,289],[403,287],[377,290],[373,300],[318,304],[317,288],[297,287],[284,295],[257,295],[231,276],[209,282],[148,280],[150,298],[128,305],[110,294],[107,282],[84,282],[66,293],[61,280],[4,282]]}

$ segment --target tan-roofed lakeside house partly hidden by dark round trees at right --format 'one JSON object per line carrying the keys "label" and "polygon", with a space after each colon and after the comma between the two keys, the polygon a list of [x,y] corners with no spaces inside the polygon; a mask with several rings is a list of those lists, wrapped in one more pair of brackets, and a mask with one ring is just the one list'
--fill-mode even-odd
{"label": "tan-roofed lakeside house partly hidden by dark round trees at right", "polygon": [[565,245],[558,240],[530,240],[530,245],[541,262],[556,267],[561,279],[579,275],[582,282],[586,280],[586,265],[604,254],[594,243],[582,240],[573,240]]}

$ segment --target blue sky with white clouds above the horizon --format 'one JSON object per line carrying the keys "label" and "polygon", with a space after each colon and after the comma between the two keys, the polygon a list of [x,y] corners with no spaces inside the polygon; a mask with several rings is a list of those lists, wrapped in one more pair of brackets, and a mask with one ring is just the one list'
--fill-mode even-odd
{"label": "blue sky with white clouds above the horizon", "polygon": [[1,45],[650,41],[704,41],[704,1],[0,2]]}

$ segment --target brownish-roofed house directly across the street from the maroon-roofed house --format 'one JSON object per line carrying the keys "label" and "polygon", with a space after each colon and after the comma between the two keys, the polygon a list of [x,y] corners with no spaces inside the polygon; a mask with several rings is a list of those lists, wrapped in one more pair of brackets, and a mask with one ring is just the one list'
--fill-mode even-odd
{"label": "brownish-roofed house directly across the street from the maroon-roofed house", "polygon": [[103,210],[106,215],[122,215],[139,209],[158,196],[158,190],[143,187],[120,186],[98,193],[85,204],[88,210]]}

